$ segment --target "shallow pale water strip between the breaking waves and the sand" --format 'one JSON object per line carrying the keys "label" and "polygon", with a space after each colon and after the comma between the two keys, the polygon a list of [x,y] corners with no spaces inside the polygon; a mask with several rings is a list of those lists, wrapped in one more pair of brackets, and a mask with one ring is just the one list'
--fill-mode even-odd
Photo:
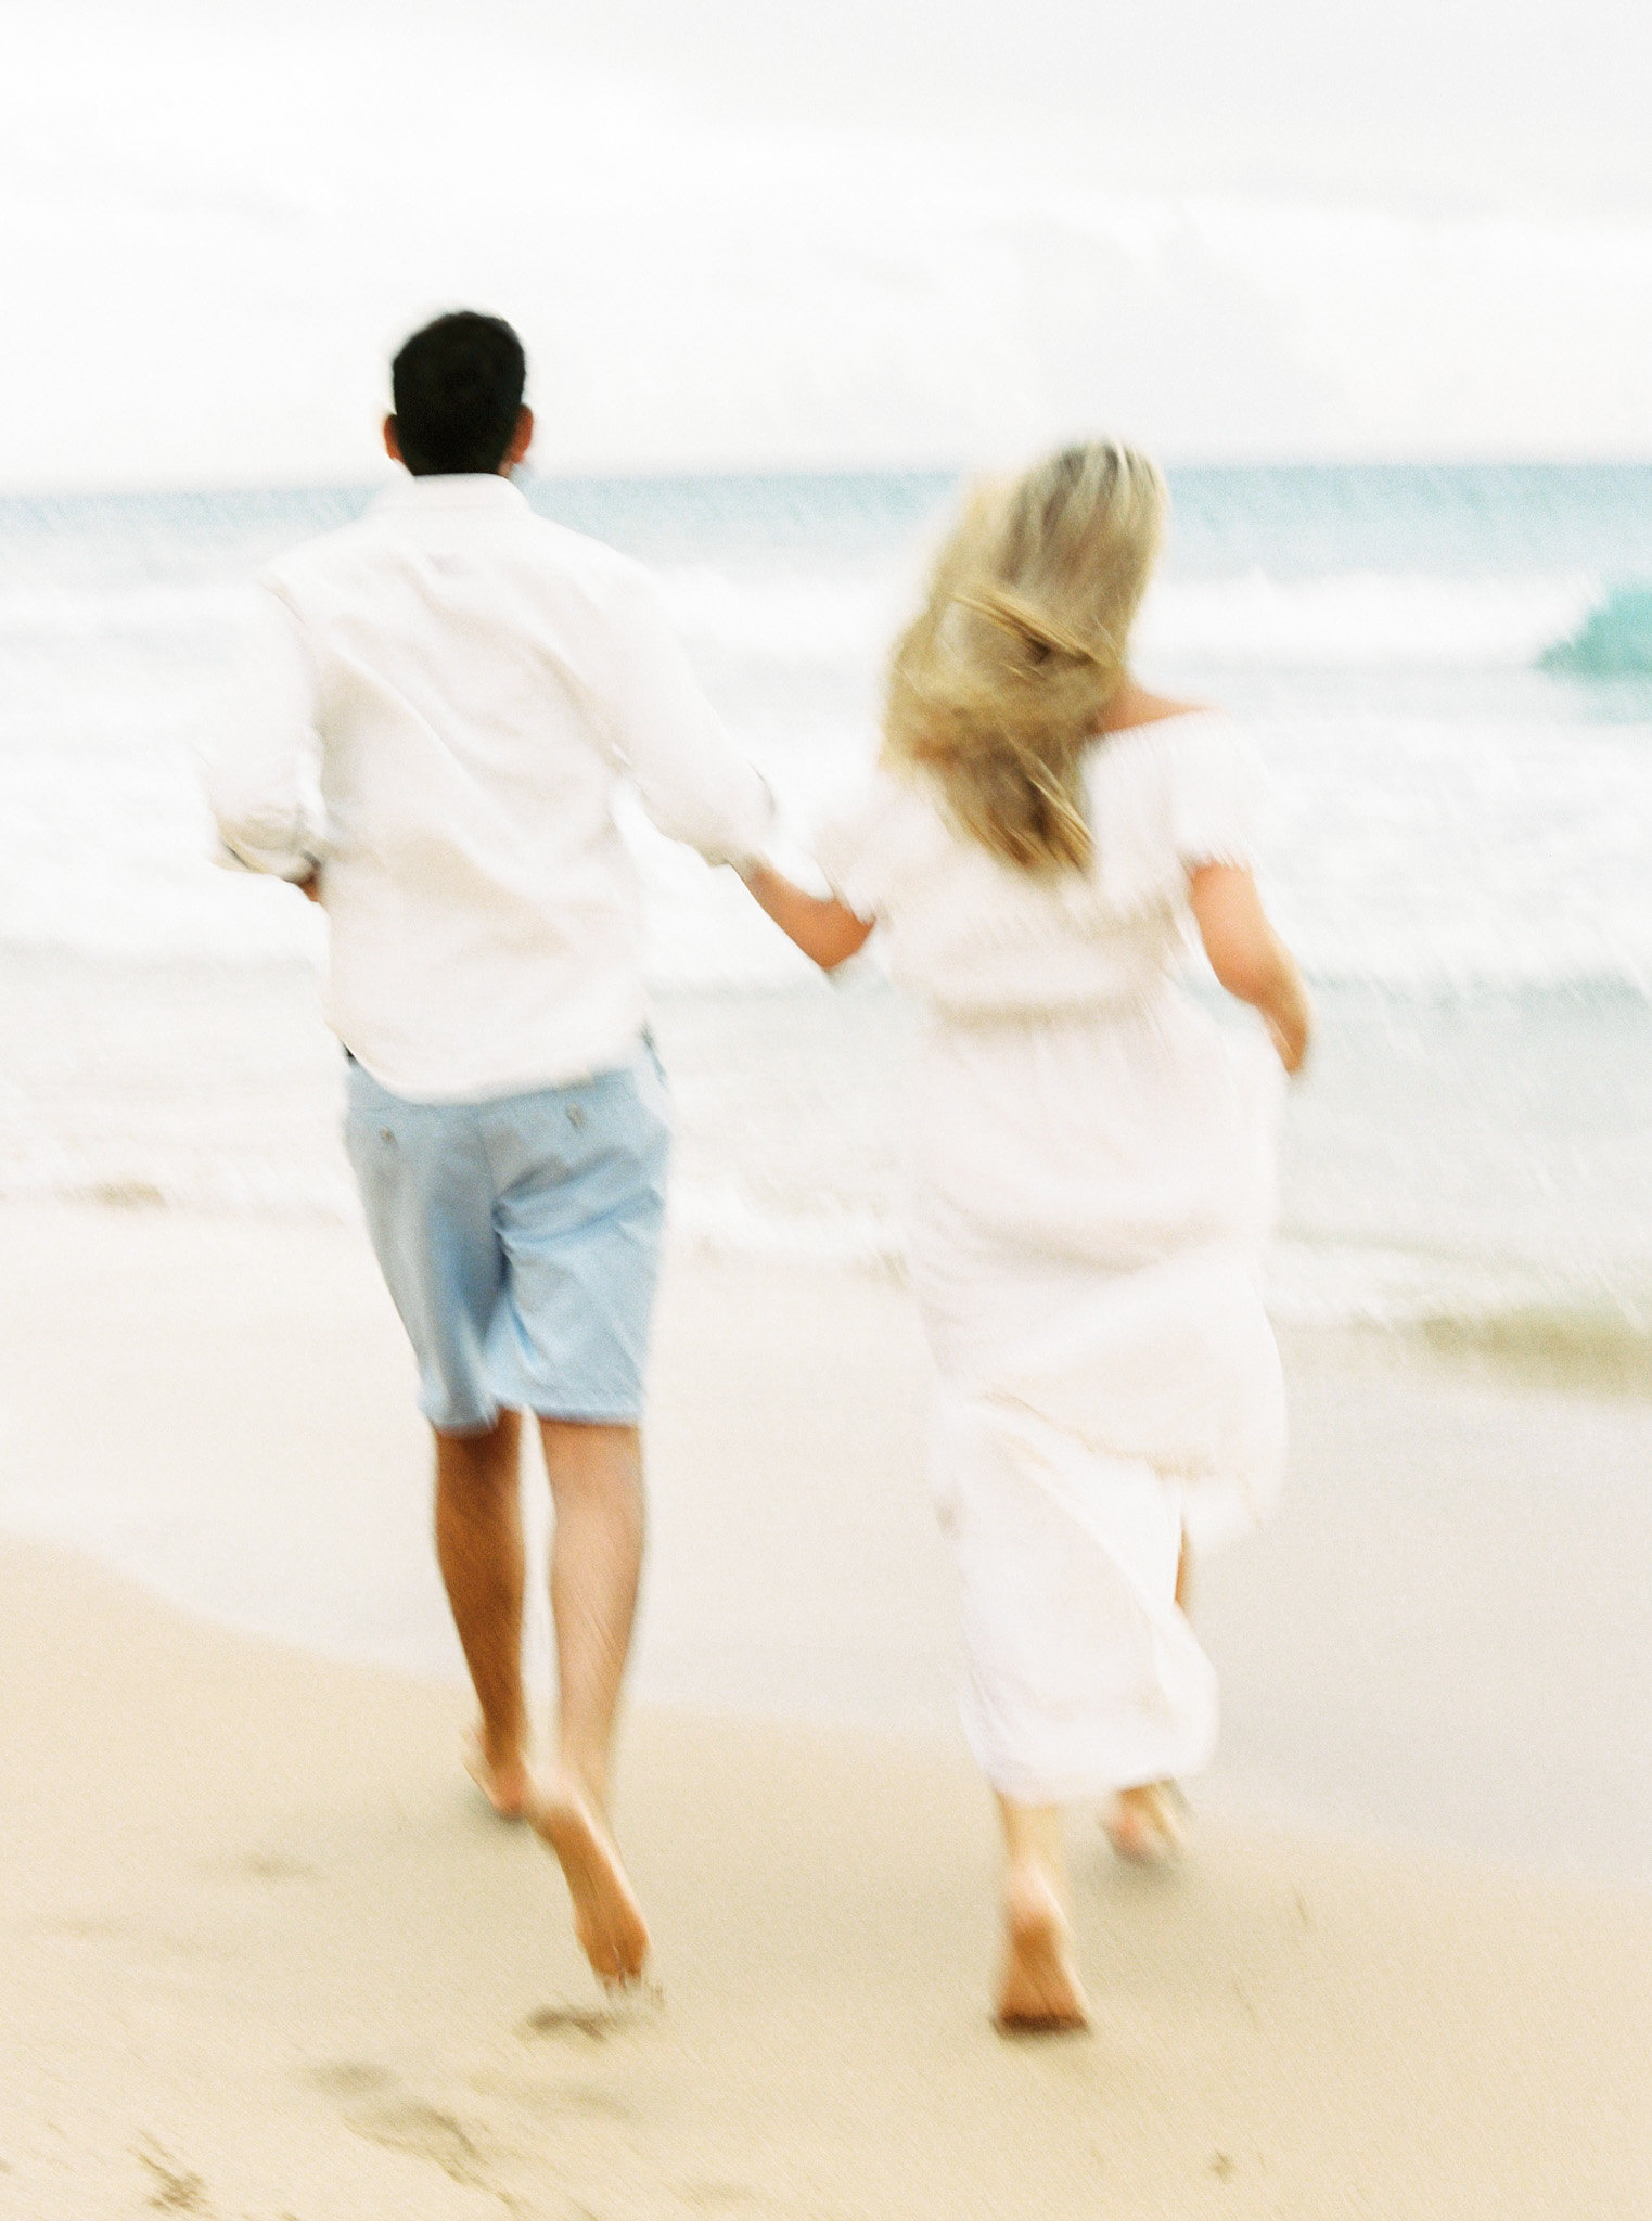
{"label": "shallow pale water strip between the breaking waves and the sand", "polygon": [[[13,948],[0,971],[0,1033],[16,1037],[0,1213],[360,1224],[340,1053],[306,962]],[[1652,1004],[1605,984],[1419,993],[1317,988],[1323,1042],[1290,1095],[1286,1230],[1266,1266],[1277,1317],[1517,1384],[1652,1397]],[[899,1273],[915,1035],[888,984],[682,984],[655,995],[655,1028],[677,1095],[679,1246]],[[1474,1106],[1510,1084],[1508,1128],[1485,1126]]]}

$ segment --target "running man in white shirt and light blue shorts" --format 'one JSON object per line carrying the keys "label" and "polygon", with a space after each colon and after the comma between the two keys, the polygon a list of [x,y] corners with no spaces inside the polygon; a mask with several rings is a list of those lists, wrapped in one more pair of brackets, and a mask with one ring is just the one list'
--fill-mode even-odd
{"label": "running man in white shirt and light blue shorts", "polygon": [[[770,802],[648,575],[533,515],[508,324],[457,313],[393,364],[406,478],[264,580],[260,684],[209,775],[229,860],[331,922],[346,1142],[435,1430],[435,1541],[482,1708],[473,1775],[562,1863],[580,1943],[633,1981],[648,1930],[608,1832],[642,1561],[637,1421],[668,1115],[639,893],[613,820],[744,862]],[[315,797],[315,800],[313,800]],[[555,1506],[557,1752],[522,1695],[522,1413]]]}

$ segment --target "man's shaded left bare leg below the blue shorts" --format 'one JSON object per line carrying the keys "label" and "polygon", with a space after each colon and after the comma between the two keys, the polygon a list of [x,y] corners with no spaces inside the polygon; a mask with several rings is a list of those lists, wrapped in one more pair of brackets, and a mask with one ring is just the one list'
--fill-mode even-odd
{"label": "man's shaded left bare leg below the blue shorts", "polygon": [[435,1430],[435,1557],[482,1708],[471,1772],[495,1812],[528,1810],[522,1697],[522,1421],[484,1435]]}

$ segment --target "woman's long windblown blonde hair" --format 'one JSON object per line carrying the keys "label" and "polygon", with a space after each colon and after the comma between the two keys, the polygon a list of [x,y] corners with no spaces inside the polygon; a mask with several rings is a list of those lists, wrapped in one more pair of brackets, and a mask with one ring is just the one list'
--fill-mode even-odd
{"label": "woman's long windblown blonde hair", "polygon": [[1084,753],[1124,680],[1164,511],[1159,471],[1112,442],[977,489],[895,649],[884,762],[928,773],[959,828],[1021,871],[1090,862]]}

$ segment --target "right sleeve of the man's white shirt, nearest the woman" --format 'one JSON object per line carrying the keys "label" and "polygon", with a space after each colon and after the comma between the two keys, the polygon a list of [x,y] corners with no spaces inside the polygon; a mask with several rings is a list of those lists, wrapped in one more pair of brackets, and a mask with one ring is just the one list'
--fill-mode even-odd
{"label": "right sleeve of the man's white shirt, nearest the woman", "polygon": [[733,746],[642,566],[615,591],[611,737],[648,820],[708,864],[746,864],[768,840],[768,782]]}

